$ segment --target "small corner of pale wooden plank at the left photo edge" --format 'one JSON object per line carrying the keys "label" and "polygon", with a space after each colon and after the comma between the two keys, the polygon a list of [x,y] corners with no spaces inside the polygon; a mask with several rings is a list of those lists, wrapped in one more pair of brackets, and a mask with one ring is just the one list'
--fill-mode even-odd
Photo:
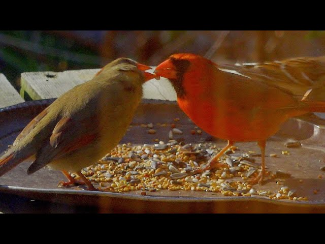
{"label": "small corner of pale wooden plank at the left photo edge", "polygon": [[0,108],[22,103],[24,100],[10,84],[4,74],[0,74]]}

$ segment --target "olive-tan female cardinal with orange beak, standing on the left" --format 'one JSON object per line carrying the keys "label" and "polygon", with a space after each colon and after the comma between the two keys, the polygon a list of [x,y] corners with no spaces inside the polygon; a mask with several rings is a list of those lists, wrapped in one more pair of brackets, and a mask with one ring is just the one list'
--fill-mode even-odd
{"label": "olive-tan female cardinal with orange beak, standing on the left", "polygon": [[26,159],[34,161],[27,170],[44,166],[81,173],[118,144],[132,121],[142,98],[142,84],[154,77],[151,69],[129,58],[118,58],[95,77],[75,86],[36,116],[17,136],[13,146],[0,158],[0,176]]}

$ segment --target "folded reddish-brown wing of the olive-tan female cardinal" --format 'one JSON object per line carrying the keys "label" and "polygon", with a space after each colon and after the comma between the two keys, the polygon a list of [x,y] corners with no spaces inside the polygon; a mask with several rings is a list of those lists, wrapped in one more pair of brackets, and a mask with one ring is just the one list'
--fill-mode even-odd
{"label": "folded reddish-brown wing of the olive-tan female cardinal", "polygon": [[96,136],[98,136],[98,123],[94,115],[82,120],[61,118],[50,140],[38,151],[36,160],[30,165],[27,173],[34,173],[51,161],[92,143]]}

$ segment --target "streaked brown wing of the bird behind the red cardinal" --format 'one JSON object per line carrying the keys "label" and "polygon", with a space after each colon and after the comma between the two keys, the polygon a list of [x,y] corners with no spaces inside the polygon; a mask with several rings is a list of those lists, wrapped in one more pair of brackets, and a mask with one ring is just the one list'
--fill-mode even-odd
{"label": "streaked brown wing of the bird behind the red cardinal", "polygon": [[[325,80],[325,56],[297,57],[279,62],[218,65],[218,68],[289,90],[299,99],[303,98],[308,89],[319,87],[319,83],[324,86]],[[325,89],[317,92],[318,97],[319,93],[325,100]]]}

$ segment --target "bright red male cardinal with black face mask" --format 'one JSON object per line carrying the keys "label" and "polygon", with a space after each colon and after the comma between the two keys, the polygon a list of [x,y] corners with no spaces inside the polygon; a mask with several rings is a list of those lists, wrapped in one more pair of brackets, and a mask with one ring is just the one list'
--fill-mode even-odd
{"label": "bright red male cardinal with black face mask", "polygon": [[262,170],[252,184],[263,181],[266,140],[287,118],[325,112],[325,102],[297,100],[285,89],[219,70],[209,59],[195,54],[174,54],[158,65],[154,73],[171,81],[179,107],[197,126],[228,140],[208,168],[220,166],[218,158],[236,141],[258,142]]}

